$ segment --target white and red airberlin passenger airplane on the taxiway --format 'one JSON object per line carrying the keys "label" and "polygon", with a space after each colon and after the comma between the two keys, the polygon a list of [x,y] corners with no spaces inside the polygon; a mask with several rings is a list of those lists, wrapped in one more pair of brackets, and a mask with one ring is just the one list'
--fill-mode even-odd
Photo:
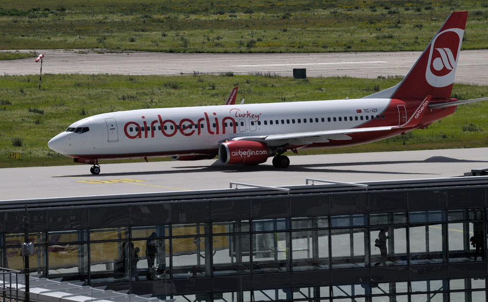
{"label": "white and red airberlin passenger airplane on the taxiway", "polygon": [[468,12],[451,13],[402,82],[362,99],[235,105],[234,88],[227,106],[94,115],[48,146],[93,165],[93,174],[100,173],[102,159],[157,156],[219,155],[227,165],[257,165],[274,156],[273,166],[286,168],[286,151],[358,145],[423,129],[458,105],[488,100],[450,97],[467,18]]}

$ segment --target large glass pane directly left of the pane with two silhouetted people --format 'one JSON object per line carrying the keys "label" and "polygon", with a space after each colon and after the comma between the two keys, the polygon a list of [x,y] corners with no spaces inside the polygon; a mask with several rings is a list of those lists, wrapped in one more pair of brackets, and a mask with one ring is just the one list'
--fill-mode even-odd
{"label": "large glass pane directly left of the pane with two silhouetted people", "polygon": [[129,241],[90,243],[92,282],[127,281],[130,270]]}

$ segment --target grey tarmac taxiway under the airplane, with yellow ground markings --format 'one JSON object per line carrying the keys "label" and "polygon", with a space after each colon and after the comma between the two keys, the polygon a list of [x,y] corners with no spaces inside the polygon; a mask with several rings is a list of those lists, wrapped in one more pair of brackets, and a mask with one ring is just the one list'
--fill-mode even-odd
{"label": "grey tarmac taxiway under the airplane, with yellow ground markings", "polygon": [[[288,169],[271,158],[258,166],[216,160],[1,169],[0,200],[138,194],[229,188],[230,181],[264,186],[304,185],[305,178],[370,182],[462,176],[488,167],[488,148],[290,156]],[[106,162],[106,164],[104,164]]]}

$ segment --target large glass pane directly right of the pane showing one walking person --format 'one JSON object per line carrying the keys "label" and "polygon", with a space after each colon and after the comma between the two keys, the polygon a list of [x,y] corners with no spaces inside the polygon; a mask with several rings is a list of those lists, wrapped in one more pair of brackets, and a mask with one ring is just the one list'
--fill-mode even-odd
{"label": "large glass pane directly right of the pane showing one walking person", "polygon": [[446,225],[419,225],[409,227],[410,263],[447,262]]}

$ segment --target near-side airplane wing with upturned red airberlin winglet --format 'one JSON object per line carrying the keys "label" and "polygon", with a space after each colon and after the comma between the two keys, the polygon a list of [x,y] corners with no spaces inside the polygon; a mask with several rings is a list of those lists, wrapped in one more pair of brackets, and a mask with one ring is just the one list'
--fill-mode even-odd
{"label": "near-side airplane wing with upturned red airberlin winglet", "polygon": [[306,145],[310,143],[327,143],[329,140],[350,140],[352,139],[347,134],[352,133],[365,133],[365,132],[377,132],[405,129],[405,131],[415,129],[420,123],[424,113],[427,111],[430,98],[428,95],[419,107],[413,112],[412,116],[407,122],[401,126],[385,126],[385,127],[369,127],[369,128],[351,128],[351,129],[337,129],[337,130],[324,130],[313,132],[297,132],[297,133],[284,133],[284,134],[271,134],[271,135],[256,135],[256,136],[241,136],[234,137],[231,140],[250,140],[266,142],[269,146],[281,146],[285,144],[291,145]]}

